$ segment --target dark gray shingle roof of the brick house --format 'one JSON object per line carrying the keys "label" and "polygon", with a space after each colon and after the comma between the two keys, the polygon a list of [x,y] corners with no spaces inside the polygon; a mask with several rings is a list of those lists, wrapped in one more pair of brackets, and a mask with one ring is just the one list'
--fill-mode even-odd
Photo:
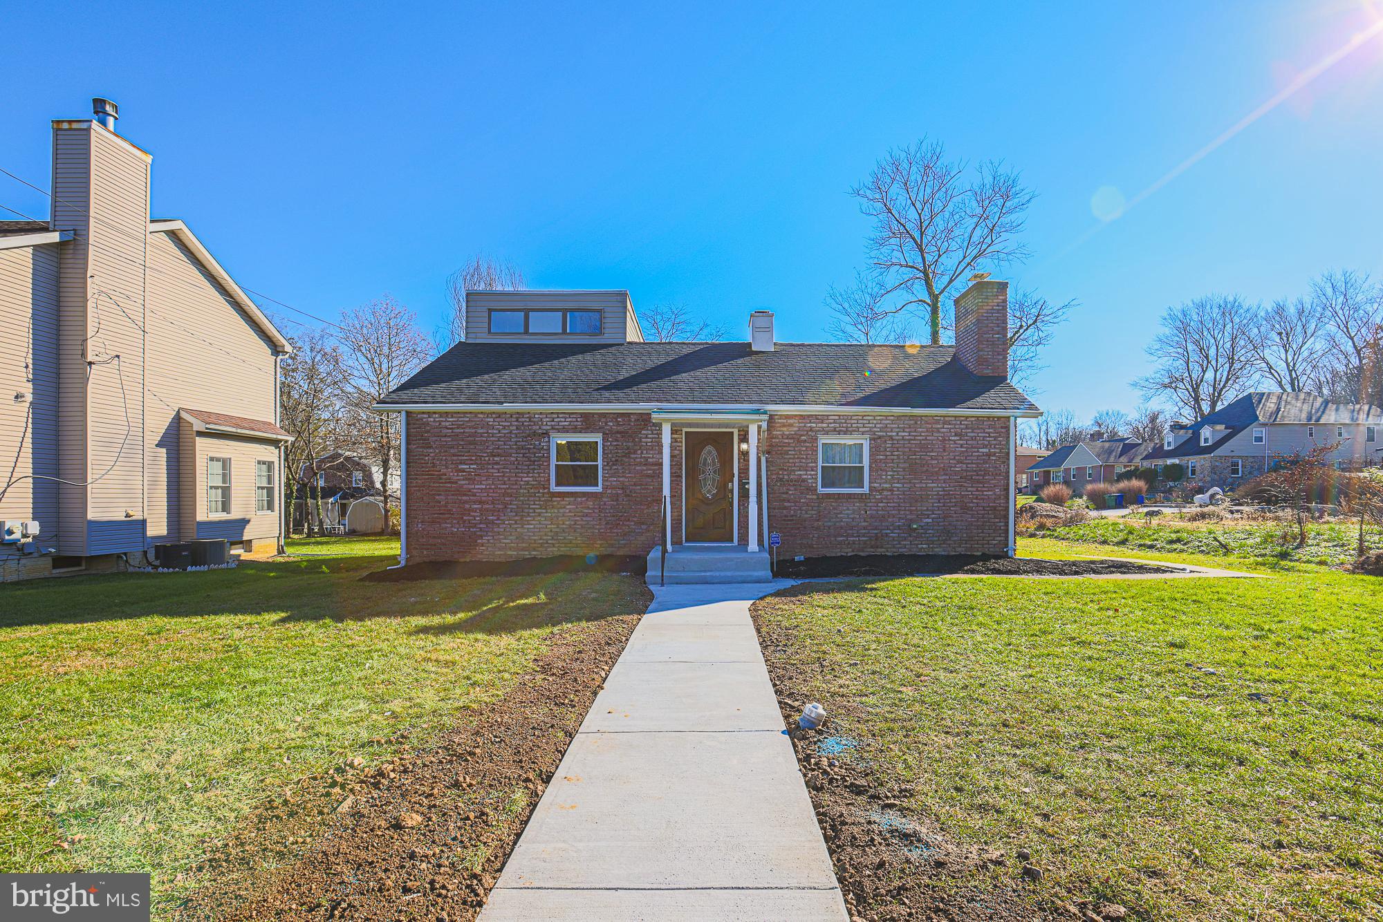
{"label": "dark gray shingle roof of the brick house", "polygon": [[1036,412],[950,346],[458,343],[382,401],[408,404],[815,405]]}

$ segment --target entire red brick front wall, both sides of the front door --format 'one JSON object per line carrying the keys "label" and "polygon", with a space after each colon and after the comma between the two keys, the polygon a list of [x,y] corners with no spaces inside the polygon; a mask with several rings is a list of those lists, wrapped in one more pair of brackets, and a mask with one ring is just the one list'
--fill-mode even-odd
{"label": "entire red brick front wall, both sides of the front door", "polygon": [[[997,554],[1008,545],[1007,419],[774,415],[768,430],[769,528],[783,535],[780,557]],[[603,435],[602,492],[549,488],[555,433]],[[817,492],[820,435],[870,437],[870,492]],[[674,542],[682,540],[682,431],[674,430]],[[647,413],[408,415],[411,561],[644,554],[658,542],[661,487],[662,433]],[[743,543],[743,488],[739,518]]]}

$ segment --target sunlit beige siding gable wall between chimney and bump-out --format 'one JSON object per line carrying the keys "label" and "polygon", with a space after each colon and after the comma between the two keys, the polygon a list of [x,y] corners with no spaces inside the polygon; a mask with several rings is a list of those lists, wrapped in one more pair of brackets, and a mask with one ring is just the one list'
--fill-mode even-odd
{"label": "sunlit beige siding gable wall between chimney and bump-out", "polygon": [[171,232],[149,235],[148,318],[149,540],[188,540],[192,531],[178,531],[176,513],[178,463],[187,456],[180,452],[177,412],[207,409],[274,422],[274,351]]}

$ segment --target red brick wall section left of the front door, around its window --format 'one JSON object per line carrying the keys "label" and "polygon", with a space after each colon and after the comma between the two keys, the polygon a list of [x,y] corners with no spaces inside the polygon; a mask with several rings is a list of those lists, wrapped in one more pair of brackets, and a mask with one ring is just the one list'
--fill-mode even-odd
{"label": "red brick wall section left of the front door, around its window", "polygon": [[[604,489],[553,492],[550,434],[599,433]],[[646,554],[662,434],[647,413],[409,413],[408,560]]]}

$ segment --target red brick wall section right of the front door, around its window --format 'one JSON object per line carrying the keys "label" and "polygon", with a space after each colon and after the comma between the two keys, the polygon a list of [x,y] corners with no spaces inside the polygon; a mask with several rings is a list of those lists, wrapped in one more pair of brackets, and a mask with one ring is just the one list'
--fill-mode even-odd
{"label": "red brick wall section right of the front door, around its window", "polygon": [[[823,435],[867,435],[867,493],[820,493]],[[779,557],[1001,554],[1008,546],[1008,420],[974,416],[773,416],[769,528]]]}

